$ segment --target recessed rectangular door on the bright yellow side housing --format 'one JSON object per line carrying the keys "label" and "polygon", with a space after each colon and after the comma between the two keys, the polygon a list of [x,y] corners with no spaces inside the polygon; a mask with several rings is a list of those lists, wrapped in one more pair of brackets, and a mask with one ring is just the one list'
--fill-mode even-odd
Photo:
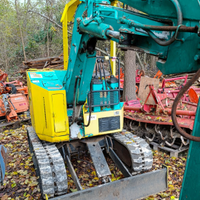
{"label": "recessed rectangular door on the bright yellow side housing", "polygon": [[64,106],[64,95],[53,94],[52,106],[55,132],[59,133],[66,131],[66,110]]}

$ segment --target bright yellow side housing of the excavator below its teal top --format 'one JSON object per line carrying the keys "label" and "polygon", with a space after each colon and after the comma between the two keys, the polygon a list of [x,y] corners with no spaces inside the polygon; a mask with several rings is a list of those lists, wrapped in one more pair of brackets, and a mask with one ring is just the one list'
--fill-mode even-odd
{"label": "bright yellow side housing of the excavator below its teal top", "polygon": [[65,90],[48,91],[32,83],[28,77],[32,126],[41,140],[69,141]]}

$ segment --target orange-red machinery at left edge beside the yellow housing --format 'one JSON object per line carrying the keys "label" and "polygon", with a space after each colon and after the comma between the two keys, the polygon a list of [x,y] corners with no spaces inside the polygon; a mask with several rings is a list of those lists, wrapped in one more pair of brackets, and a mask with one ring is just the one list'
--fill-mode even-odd
{"label": "orange-red machinery at left edge beside the yellow housing", "polygon": [[28,88],[16,80],[6,82],[8,74],[0,70],[0,117],[7,121],[18,119],[18,114],[28,111]]}

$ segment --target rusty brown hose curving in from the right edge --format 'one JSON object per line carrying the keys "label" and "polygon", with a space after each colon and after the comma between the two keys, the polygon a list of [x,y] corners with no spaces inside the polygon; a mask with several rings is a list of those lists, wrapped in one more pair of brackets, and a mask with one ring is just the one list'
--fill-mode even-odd
{"label": "rusty brown hose curving in from the right edge", "polygon": [[184,95],[184,93],[189,89],[189,87],[200,77],[200,69],[197,71],[197,73],[192,77],[190,81],[188,81],[185,86],[180,90],[178,95],[176,96],[176,99],[174,100],[173,106],[172,106],[172,121],[174,123],[174,126],[176,127],[177,131],[184,136],[185,138],[189,140],[193,140],[196,142],[200,142],[200,137],[196,137],[193,135],[188,134],[185,132],[178,124],[177,118],[176,118],[176,109],[178,106],[178,102],[180,101],[181,97]]}

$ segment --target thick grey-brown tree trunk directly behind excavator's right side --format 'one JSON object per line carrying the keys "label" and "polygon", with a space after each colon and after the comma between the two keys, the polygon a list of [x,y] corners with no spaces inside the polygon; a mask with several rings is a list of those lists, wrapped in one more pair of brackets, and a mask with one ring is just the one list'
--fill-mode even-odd
{"label": "thick grey-brown tree trunk directly behind excavator's right side", "polygon": [[124,67],[124,90],[123,100],[136,99],[135,71],[136,71],[136,52],[128,50],[125,52]]}

